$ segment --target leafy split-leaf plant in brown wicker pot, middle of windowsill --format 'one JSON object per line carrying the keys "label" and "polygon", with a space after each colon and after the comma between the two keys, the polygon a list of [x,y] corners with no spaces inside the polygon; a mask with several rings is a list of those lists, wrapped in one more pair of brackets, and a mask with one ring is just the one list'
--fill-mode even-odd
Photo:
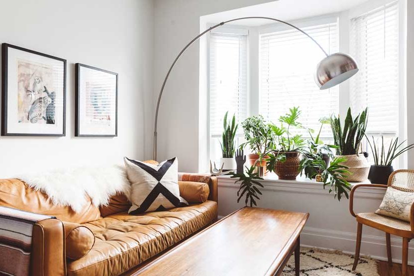
{"label": "leafy split-leaf plant in brown wicker pot, middle of windowsill", "polygon": [[295,180],[300,173],[301,148],[304,140],[299,134],[293,135],[292,128],[303,128],[297,121],[300,116],[298,107],[289,108],[289,113],[279,117],[280,127],[271,125],[273,154],[269,154],[269,169],[279,179]]}

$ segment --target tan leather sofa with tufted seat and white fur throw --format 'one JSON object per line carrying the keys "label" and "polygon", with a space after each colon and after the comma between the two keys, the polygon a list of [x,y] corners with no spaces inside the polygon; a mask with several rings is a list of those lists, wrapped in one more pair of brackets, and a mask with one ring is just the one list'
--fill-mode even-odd
{"label": "tan leather sofa with tufted seat and white fur throw", "polygon": [[[74,213],[69,207],[54,205],[44,193],[34,191],[17,179],[0,180],[0,206],[57,218],[34,225],[31,276],[129,275],[144,261],[217,219],[216,178],[196,178],[208,184],[206,202],[139,216],[128,215],[130,204],[124,195],[114,196],[106,207],[97,208],[91,202],[81,214]],[[206,193],[206,189],[196,189],[186,181],[179,185],[182,196],[189,202],[197,201],[200,192]],[[62,222],[84,225],[95,236],[92,249],[78,260],[66,256],[66,225],[64,227]]]}

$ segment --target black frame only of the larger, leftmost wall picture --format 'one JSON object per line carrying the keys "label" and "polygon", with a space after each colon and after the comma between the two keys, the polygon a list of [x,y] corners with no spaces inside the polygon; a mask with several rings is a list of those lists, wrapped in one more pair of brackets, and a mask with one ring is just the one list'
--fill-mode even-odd
{"label": "black frame only of the larger, leftmost wall picture", "polygon": [[[63,62],[63,121],[62,133],[10,133],[7,131],[7,99],[8,99],[8,49],[13,48]],[[1,135],[2,136],[66,136],[66,59],[22,48],[8,43],[1,44]]]}

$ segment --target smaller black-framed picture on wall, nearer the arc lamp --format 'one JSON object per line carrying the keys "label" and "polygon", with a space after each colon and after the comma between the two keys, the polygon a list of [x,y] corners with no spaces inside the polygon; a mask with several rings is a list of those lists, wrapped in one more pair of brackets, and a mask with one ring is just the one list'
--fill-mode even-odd
{"label": "smaller black-framed picture on wall, nearer the arc lamp", "polygon": [[118,134],[118,74],[76,63],[75,136]]}

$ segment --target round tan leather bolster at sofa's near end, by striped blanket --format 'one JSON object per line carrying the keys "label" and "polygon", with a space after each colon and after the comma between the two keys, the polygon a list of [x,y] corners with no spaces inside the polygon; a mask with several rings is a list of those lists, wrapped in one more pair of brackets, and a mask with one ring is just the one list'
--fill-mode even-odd
{"label": "round tan leather bolster at sofa's near end, by striped blanket", "polygon": [[78,260],[88,254],[95,244],[92,231],[77,223],[63,222],[65,228],[66,258]]}

